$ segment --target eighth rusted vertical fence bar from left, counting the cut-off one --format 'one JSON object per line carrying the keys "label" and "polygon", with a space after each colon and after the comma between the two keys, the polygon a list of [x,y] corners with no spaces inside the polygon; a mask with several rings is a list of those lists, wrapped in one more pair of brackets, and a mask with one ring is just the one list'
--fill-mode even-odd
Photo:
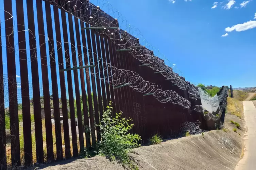
{"label": "eighth rusted vertical fence bar from left, counting the cut-off one", "polygon": [[[62,29],[63,29],[63,38],[64,38],[64,48],[65,48],[65,57],[66,57],[66,67],[70,68],[70,57],[69,57],[69,45],[68,45],[68,30],[66,25],[66,12],[61,10],[62,17]],[[75,109],[74,109],[74,95],[72,87],[72,77],[71,70],[67,71],[67,80],[68,80],[68,97],[69,97],[69,109],[70,109],[70,124],[71,124],[71,133],[72,133],[72,145],[73,145],[73,157],[78,156],[78,144],[76,139],[76,126],[75,126]]]}

